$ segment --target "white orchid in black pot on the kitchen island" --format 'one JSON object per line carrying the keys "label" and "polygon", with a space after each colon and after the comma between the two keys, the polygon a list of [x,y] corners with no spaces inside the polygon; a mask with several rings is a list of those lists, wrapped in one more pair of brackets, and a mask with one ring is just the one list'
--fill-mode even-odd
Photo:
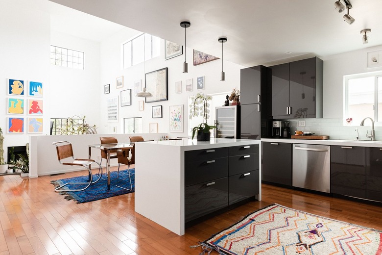
{"label": "white orchid in black pot on the kitchen island", "polygon": [[211,101],[211,96],[206,96],[202,93],[198,93],[195,96],[191,97],[191,104],[190,104],[190,115],[189,119],[191,120],[193,117],[196,116],[202,116],[203,122],[199,124],[198,126],[192,128],[192,139],[194,138],[196,134],[196,140],[197,141],[210,141],[211,139],[211,132],[210,130],[212,128],[216,128],[215,126],[210,126],[207,124],[207,119],[210,117],[209,113],[210,110],[208,107],[210,104],[208,101]]}

